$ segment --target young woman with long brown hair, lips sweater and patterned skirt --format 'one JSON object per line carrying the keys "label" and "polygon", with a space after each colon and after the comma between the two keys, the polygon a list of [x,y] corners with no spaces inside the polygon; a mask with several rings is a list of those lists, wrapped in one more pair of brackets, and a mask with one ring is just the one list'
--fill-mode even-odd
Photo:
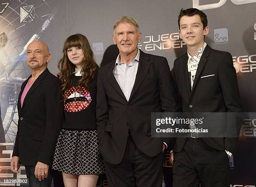
{"label": "young woman with long brown hair, lips sweater and patterned skirt", "polygon": [[84,35],[67,38],[58,68],[65,114],[53,169],[62,172],[66,187],[95,187],[99,174],[105,172],[95,115],[99,67]]}

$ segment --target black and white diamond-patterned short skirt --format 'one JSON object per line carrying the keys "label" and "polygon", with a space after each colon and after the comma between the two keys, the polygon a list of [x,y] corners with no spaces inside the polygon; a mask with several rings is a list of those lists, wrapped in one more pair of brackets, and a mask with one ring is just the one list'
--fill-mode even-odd
{"label": "black and white diamond-patterned short skirt", "polygon": [[96,130],[62,129],[56,144],[53,169],[68,174],[105,173],[98,143]]}

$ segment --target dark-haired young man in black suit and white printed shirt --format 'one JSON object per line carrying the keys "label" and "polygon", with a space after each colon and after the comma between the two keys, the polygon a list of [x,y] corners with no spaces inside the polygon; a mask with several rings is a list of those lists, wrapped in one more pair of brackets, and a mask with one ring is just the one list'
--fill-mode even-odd
{"label": "dark-haired young man in black suit and white printed shirt", "polygon": [[[207,16],[201,10],[181,10],[179,35],[187,53],[174,61],[174,78],[183,112],[239,112],[240,95],[228,52],[210,48]],[[174,187],[229,186],[229,158],[238,138],[177,138],[174,146]],[[172,161],[172,160],[171,160]]]}

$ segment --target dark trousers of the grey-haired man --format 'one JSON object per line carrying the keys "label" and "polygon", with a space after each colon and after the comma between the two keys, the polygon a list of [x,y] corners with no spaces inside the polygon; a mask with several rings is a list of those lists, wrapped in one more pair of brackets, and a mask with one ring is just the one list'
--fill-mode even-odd
{"label": "dark trousers of the grey-haired man", "polygon": [[120,164],[105,162],[105,169],[110,187],[162,187],[162,153],[148,157],[138,149],[131,135]]}

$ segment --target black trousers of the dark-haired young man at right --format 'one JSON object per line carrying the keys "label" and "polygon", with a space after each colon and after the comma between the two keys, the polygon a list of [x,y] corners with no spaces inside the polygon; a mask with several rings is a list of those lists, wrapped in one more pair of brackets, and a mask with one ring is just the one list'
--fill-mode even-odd
{"label": "black trousers of the dark-haired young man at right", "polygon": [[225,150],[208,146],[203,139],[187,138],[174,152],[173,187],[229,187],[229,159]]}

